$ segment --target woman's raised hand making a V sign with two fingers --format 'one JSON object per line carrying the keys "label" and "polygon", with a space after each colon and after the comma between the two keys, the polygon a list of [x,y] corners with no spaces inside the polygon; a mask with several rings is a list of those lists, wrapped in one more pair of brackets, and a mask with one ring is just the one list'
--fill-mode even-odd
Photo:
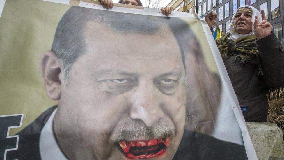
{"label": "woman's raised hand making a V sign with two fingers", "polygon": [[261,22],[258,20],[258,16],[255,16],[253,29],[254,34],[258,39],[264,38],[271,34],[272,25],[267,22],[264,10],[261,10]]}

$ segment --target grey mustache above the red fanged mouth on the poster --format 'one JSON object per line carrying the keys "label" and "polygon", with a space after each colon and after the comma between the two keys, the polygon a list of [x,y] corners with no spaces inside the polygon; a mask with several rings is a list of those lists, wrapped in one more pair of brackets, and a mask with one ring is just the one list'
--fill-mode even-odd
{"label": "grey mustache above the red fanged mouth on the poster", "polygon": [[119,142],[122,140],[146,140],[173,136],[175,136],[175,126],[169,119],[159,119],[152,127],[146,126],[141,119],[132,119],[116,125],[110,140]]}

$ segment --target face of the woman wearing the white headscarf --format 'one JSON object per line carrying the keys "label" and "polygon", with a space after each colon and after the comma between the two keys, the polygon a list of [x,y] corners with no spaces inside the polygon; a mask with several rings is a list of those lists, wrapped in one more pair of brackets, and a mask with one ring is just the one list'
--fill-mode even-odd
{"label": "face of the woman wearing the white headscarf", "polygon": [[248,11],[248,8],[237,11],[234,26],[238,34],[249,34],[252,31],[252,13]]}

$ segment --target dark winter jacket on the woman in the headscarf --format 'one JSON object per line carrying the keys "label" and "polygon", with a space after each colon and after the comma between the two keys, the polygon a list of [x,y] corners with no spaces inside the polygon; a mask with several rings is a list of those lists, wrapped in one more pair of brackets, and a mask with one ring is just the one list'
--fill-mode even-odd
{"label": "dark winter jacket on the woman in the headscarf", "polygon": [[258,64],[242,64],[241,59],[234,60],[235,56],[223,58],[223,61],[239,104],[246,107],[243,112],[245,120],[265,122],[268,113],[268,89],[284,86],[284,52],[274,33],[257,40],[256,44],[263,75],[259,72]]}

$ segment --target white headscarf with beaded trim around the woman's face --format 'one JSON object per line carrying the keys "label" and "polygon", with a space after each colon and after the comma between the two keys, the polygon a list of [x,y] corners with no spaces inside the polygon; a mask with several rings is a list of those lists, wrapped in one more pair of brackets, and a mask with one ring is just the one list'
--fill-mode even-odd
{"label": "white headscarf with beaded trim around the woman's face", "polygon": [[[238,12],[238,10],[239,10],[240,8],[249,8],[249,9],[252,10],[252,17],[251,17],[251,19],[252,19],[252,30],[251,30],[251,32],[250,32],[249,34],[238,34],[237,32],[235,32],[234,20],[235,20],[236,13]],[[229,37],[229,39],[235,41],[235,40],[236,40],[237,38],[239,38],[239,37],[254,34],[253,23],[254,23],[254,20],[255,20],[255,16],[256,16],[256,15],[258,16],[258,18],[261,18],[260,12],[259,12],[256,8],[254,8],[253,6],[247,6],[247,5],[246,5],[246,6],[241,6],[241,7],[239,7],[239,8],[237,9],[237,11],[235,12],[234,16],[232,17],[232,20],[231,20],[231,23],[230,23],[229,31],[230,31],[230,33],[231,33],[231,36]]]}

